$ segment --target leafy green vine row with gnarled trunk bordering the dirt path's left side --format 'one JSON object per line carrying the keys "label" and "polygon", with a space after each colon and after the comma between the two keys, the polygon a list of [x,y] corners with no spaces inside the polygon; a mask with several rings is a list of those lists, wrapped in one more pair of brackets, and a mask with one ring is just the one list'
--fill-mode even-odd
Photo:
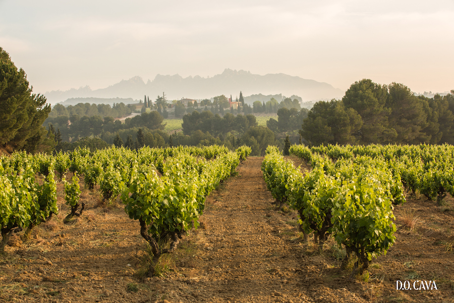
{"label": "leafy green vine row with gnarled trunk bordering the dirt path's left side", "polygon": [[[205,149],[208,151],[196,147],[163,150],[166,161],[162,165],[162,177],[152,166],[133,165],[122,201],[129,217],[139,220],[141,235],[152,249],[154,257],[149,274],[154,273],[161,254],[176,248],[178,237],[197,228],[205,196],[239,164],[239,155],[227,153],[225,147]],[[215,159],[208,162],[196,158],[201,155]],[[171,248],[164,249],[168,239],[172,240]]]}

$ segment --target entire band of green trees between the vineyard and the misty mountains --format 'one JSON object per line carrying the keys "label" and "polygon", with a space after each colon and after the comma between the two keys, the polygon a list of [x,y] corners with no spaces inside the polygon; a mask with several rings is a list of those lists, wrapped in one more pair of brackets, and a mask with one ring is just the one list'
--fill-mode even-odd
{"label": "entire band of green trees between the vineyard and the misty mountains", "polygon": [[[130,148],[225,144],[236,148],[247,144],[252,155],[263,155],[267,144],[283,148],[298,141],[310,145],[454,144],[454,90],[428,98],[416,96],[400,83],[380,85],[363,79],[352,84],[342,99],[317,102],[310,111],[301,109],[296,98],[280,103],[271,98],[251,107],[244,103],[242,92],[239,108],[231,107],[230,112],[224,110],[229,107],[224,95],[214,97],[213,102],[190,103],[188,108],[177,101],[183,132],[172,135],[163,131],[163,115],[169,106],[165,95],[158,96],[155,105],[147,96],[145,100],[145,109],[152,106],[152,111],[144,110],[125,123],[115,117],[128,115],[134,108],[122,103],[112,107],[56,105],[51,111],[45,97],[32,93],[25,72],[0,47],[0,146],[10,152],[49,152],[81,144],[93,148],[105,144]],[[258,126],[253,112],[276,112],[277,120],[271,118],[267,127]],[[287,136],[290,139],[285,140]]]}

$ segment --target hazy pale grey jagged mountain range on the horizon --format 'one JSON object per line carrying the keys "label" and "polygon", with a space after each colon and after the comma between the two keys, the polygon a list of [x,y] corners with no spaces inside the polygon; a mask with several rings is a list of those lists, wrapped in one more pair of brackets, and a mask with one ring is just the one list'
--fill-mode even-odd
{"label": "hazy pale grey jagged mountain range on the horizon", "polygon": [[285,96],[301,96],[302,102],[341,98],[344,91],[332,85],[315,80],[303,79],[286,74],[256,75],[249,71],[225,69],[221,74],[203,78],[180,75],[156,75],[147,83],[139,76],[122,80],[106,88],[92,90],[89,86],[61,91],[53,90],[44,93],[49,104],[63,103],[69,98],[133,98],[143,99],[147,95],[154,100],[164,92],[168,100],[173,99],[205,99],[225,95],[233,99],[252,94],[282,94]]}

